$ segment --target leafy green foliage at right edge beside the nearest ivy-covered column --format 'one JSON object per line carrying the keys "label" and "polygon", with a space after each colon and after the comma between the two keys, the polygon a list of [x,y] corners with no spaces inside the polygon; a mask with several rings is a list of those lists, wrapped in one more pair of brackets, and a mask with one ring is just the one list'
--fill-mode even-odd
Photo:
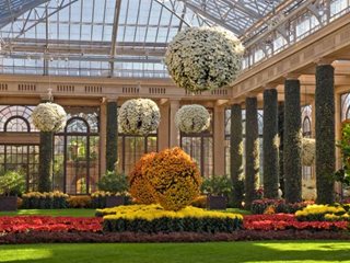
{"label": "leafy green foliage at right edge beside the nearest ivy-covered column", "polygon": [[342,168],[335,173],[335,180],[350,186],[350,124],[342,127],[341,140],[336,145],[340,149]]}

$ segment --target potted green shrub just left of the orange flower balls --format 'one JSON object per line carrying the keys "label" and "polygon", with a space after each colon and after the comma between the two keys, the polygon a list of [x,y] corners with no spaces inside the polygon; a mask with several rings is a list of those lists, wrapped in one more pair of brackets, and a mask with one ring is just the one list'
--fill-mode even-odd
{"label": "potted green shrub just left of the orange flower balls", "polygon": [[127,176],[115,171],[107,171],[97,183],[98,190],[109,192],[106,195],[106,207],[124,205],[126,203],[126,194],[128,190]]}

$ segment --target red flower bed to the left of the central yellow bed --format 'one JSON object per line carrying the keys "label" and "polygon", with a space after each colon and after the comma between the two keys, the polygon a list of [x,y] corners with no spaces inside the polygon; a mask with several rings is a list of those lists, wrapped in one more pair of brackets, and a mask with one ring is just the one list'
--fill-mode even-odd
{"label": "red flower bed to the left of the central yellow bed", "polygon": [[78,218],[78,217],[49,217],[49,216],[16,216],[0,217],[1,232],[97,232],[102,231],[102,218]]}

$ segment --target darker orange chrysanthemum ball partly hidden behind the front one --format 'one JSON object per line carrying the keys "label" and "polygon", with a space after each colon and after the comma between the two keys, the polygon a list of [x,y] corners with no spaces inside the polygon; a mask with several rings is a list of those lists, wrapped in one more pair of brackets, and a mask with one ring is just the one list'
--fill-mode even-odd
{"label": "darker orange chrysanthemum ball partly hidden behind the front one", "polygon": [[150,205],[158,203],[154,199],[154,188],[150,185],[149,180],[142,173],[142,170],[147,163],[151,163],[155,152],[144,155],[135,165],[133,170],[130,172],[129,180],[129,192],[135,198],[136,203]]}

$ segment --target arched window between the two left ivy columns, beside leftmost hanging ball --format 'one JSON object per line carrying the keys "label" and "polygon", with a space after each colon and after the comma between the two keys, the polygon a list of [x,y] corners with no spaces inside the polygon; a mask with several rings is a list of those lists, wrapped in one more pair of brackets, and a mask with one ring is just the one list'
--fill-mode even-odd
{"label": "arched window between the two left ivy columns, beside leftmost hanging ball", "polygon": [[98,111],[66,110],[67,125],[55,135],[54,188],[68,194],[92,193],[100,178]]}

